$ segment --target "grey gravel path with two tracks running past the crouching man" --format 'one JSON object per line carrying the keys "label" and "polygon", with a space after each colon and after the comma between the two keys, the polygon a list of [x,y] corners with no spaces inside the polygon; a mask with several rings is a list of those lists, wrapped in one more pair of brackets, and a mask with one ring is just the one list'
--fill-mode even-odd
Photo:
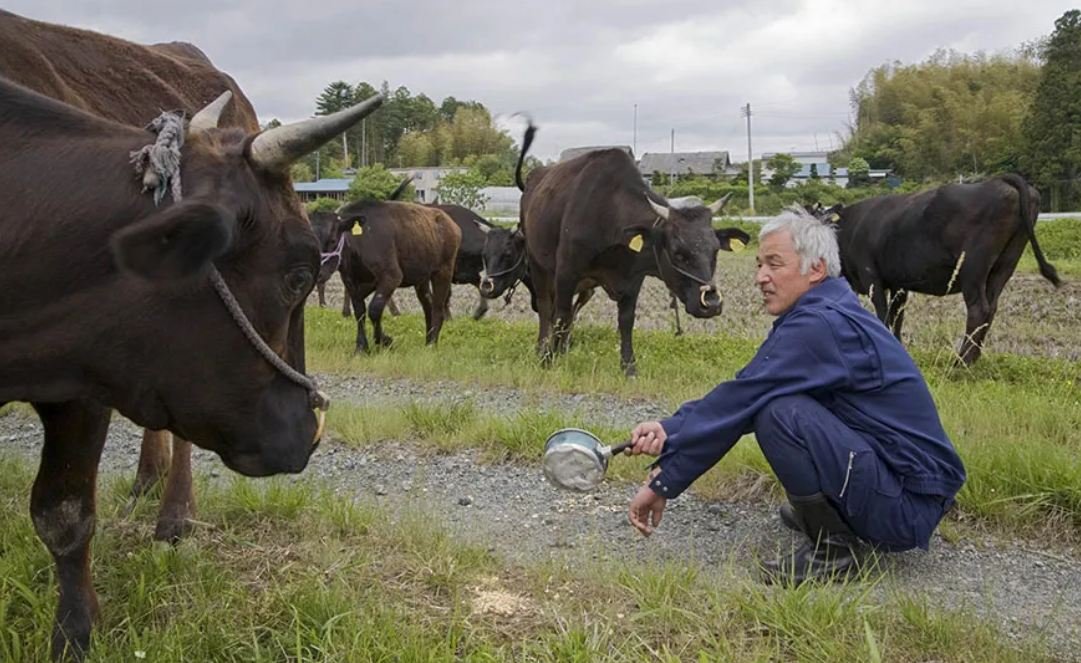
{"label": "grey gravel path with two tracks running past the crouching man", "polygon": [[[666,413],[658,403],[611,396],[538,396],[372,376],[324,376],[321,382],[339,402],[402,406],[470,400],[484,411],[582,409],[628,427]],[[134,474],[139,439],[139,428],[116,421],[102,463],[106,477]],[[36,460],[40,440],[36,419],[0,417],[0,453]],[[391,509],[424,509],[456,536],[488,546],[511,562],[575,563],[633,556],[696,560],[723,566],[724,572],[749,574],[757,552],[770,555],[795,541],[780,527],[775,505],[707,502],[692,493],[669,504],[663,526],[646,541],[626,519],[635,486],[608,482],[590,494],[560,492],[544,481],[538,466],[491,465],[479,459],[473,452],[435,454],[410,440],[355,449],[330,439],[308,469],[292,480],[325,482],[343,496],[375,495]],[[197,473],[212,477],[232,476],[216,456],[201,450],[195,466]],[[993,621],[1011,637],[1045,637],[1063,660],[1081,661],[1081,559],[1038,548],[1038,542],[990,539],[953,545],[936,535],[927,553],[889,556],[888,575],[876,592],[925,594],[933,605]]]}

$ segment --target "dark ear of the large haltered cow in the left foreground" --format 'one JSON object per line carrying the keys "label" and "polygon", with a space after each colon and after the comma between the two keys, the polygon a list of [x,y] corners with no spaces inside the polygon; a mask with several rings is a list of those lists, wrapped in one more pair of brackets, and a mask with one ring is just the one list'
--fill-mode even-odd
{"label": "dark ear of the large haltered cow in the left foreground", "polygon": [[232,243],[236,218],[224,208],[182,202],[117,231],[112,255],[121,269],[149,280],[203,274]]}

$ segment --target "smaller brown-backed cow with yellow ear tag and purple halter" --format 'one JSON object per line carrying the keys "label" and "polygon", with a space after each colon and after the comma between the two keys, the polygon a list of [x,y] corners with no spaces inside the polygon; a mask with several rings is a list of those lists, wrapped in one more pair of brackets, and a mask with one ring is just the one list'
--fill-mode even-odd
{"label": "smaller brown-backed cow with yellow ear tag and purple halter", "polygon": [[[339,209],[338,216],[338,231],[347,234],[339,274],[357,317],[357,352],[369,349],[365,311],[375,343],[392,343],[383,333],[383,309],[396,289],[410,286],[424,309],[427,343],[438,342],[462,243],[457,224],[442,210],[397,201],[352,202]],[[364,300],[373,292],[365,308]]]}

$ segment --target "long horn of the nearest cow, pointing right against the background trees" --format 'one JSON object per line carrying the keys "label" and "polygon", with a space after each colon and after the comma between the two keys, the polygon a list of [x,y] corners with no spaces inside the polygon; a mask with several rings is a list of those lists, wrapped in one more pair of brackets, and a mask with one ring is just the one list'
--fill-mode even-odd
{"label": "long horn of the nearest cow, pointing right against the background trees", "polygon": [[383,95],[328,116],[320,116],[264,131],[252,141],[252,162],[266,170],[284,170],[304,155],[319,149],[383,105]]}

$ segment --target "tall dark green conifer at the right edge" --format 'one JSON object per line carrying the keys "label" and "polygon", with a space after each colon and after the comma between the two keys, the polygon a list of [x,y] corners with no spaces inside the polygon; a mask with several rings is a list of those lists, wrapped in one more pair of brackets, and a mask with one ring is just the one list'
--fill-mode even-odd
{"label": "tall dark green conifer at the right edge", "polygon": [[1081,11],[1055,22],[1032,112],[1025,120],[1027,149],[1023,171],[1050,193],[1051,209],[1076,209],[1081,202]]}

